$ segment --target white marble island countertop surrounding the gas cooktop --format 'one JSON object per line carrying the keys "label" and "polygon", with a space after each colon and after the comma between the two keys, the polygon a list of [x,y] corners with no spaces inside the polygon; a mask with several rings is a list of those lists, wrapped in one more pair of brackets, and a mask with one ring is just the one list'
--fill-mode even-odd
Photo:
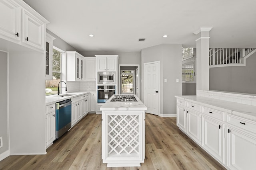
{"label": "white marble island countertop surrounding the gas cooktop", "polygon": [[137,102],[110,102],[111,98],[100,107],[101,111],[113,111],[113,110],[147,110],[147,107],[140,101],[140,99],[134,95]]}

